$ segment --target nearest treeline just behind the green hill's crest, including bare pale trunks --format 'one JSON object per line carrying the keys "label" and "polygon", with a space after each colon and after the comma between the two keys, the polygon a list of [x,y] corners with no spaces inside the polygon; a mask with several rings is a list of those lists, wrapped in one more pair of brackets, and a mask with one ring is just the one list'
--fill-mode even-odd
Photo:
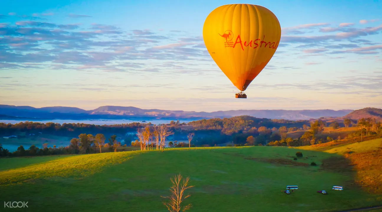
{"label": "nearest treeline just behind the green hill's crest, including bare pale trunks", "polygon": [[[244,119],[241,119],[244,118]],[[326,139],[317,139],[317,135],[322,133],[326,123],[322,120],[316,120],[310,122],[310,126],[304,124],[301,128],[297,127],[286,127],[282,126],[280,128],[264,127],[259,128],[254,127],[253,120],[245,119],[246,117],[238,118],[241,121],[240,124],[236,122],[225,122],[221,129],[217,130],[185,130],[182,133],[186,134],[188,143],[180,142],[177,143],[170,141],[168,143],[169,147],[185,147],[185,146],[217,146],[222,142],[230,143],[227,146],[251,146],[251,145],[267,145],[267,146],[306,146],[314,145],[319,143],[325,143],[333,141],[333,138],[327,137]],[[174,124],[175,123],[175,124]],[[179,126],[180,123],[172,123],[175,126]],[[211,123],[211,122],[210,122]],[[209,124],[210,124],[209,123]],[[213,123],[213,122],[212,122]],[[231,135],[227,135],[227,131],[223,131],[224,128],[230,126],[230,123],[233,124],[235,132]],[[345,120],[346,127],[349,127],[350,124]],[[197,123],[193,123],[194,126],[198,126]],[[207,125],[208,123],[205,120],[201,120],[201,125]],[[295,123],[292,123],[295,124]],[[331,126],[337,126],[335,123],[330,124]],[[244,128],[240,128],[246,126]],[[353,125],[354,126],[354,125]],[[365,136],[375,135],[376,137],[382,137],[382,124],[377,122],[375,119],[359,119],[356,126],[358,126],[358,131],[351,133],[346,136],[346,138],[362,138]],[[175,128],[176,129],[176,128]],[[293,139],[288,137],[288,132],[293,132],[296,130],[308,130],[298,139]],[[195,131],[196,133],[194,133]],[[214,132],[212,134],[206,132]],[[225,133],[223,133],[225,132]],[[162,125],[141,125],[137,127],[136,136],[138,139],[134,142],[127,141],[125,139],[124,146],[136,146],[140,147],[141,150],[151,150],[151,149],[163,149],[165,148],[165,143],[167,137],[173,135],[174,132],[171,130],[171,127],[168,127],[166,124]],[[215,135],[215,136],[213,136]],[[338,138],[339,139],[339,138]],[[193,144],[191,145],[191,141]],[[204,142],[206,141],[206,142]],[[35,145],[32,145],[28,149],[24,149],[23,146],[19,146],[17,151],[10,153],[7,149],[2,148],[0,144],[0,156],[36,156],[36,155],[52,155],[52,154],[80,154],[80,153],[97,153],[102,152],[102,147],[107,147],[109,151],[117,151],[117,148],[121,146],[121,142],[117,141],[117,135],[112,135],[108,138],[106,142],[105,135],[102,133],[97,133],[95,136],[92,134],[81,133],[78,138],[73,138],[70,141],[70,145],[66,147],[56,148],[47,148],[47,143],[43,145],[43,148],[38,148]]]}

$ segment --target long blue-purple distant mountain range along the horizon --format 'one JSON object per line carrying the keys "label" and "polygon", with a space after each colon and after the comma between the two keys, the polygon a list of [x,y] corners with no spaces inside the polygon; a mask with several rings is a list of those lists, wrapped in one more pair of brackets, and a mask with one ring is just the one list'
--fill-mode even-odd
{"label": "long blue-purple distant mountain range along the horizon", "polygon": [[102,106],[94,110],[73,107],[13,106],[0,104],[0,119],[8,120],[48,120],[48,119],[209,119],[234,116],[253,116],[257,118],[309,120],[320,117],[343,117],[354,110],[230,110],[215,112],[171,111],[160,109],[140,109],[123,106]]}

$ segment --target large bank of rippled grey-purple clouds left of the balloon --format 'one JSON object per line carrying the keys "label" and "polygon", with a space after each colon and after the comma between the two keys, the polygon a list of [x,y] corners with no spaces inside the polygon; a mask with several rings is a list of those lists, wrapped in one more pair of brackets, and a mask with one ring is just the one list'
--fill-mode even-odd
{"label": "large bank of rippled grey-purple clouds left of the balloon", "polygon": [[[86,28],[86,26],[84,26]],[[91,24],[80,30],[79,24],[54,24],[40,21],[17,21],[13,26],[0,24],[0,68],[21,68],[31,65],[55,69],[103,70],[134,72],[126,68],[133,60],[197,60],[209,58],[200,37],[171,38],[157,32],[133,30],[129,35],[119,27]],[[106,35],[106,36],[105,36]],[[168,44],[166,40],[175,40]],[[188,41],[188,42],[186,42]],[[193,42],[189,42],[193,41]],[[159,69],[140,66],[139,70]]]}

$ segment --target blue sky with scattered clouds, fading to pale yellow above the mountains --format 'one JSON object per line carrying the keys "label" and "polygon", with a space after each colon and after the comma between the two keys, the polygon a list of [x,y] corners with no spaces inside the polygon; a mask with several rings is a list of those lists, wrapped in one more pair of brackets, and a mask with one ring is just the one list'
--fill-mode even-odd
{"label": "blue sky with scattered clouds, fading to pale yellow above the mountains", "polygon": [[[269,8],[282,27],[265,69],[237,89],[208,54],[220,5]],[[0,104],[144,109],[382,108],[382,1],[3,0]]]}

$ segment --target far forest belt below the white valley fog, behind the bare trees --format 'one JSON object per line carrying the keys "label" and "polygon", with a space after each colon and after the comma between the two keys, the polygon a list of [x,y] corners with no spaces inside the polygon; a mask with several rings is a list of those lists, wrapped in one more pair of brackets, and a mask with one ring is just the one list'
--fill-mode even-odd
{"label": "far forest belt below the white valley fog, behind the bare trees", "polygon": [[[171,121],[167,124],[168,127],[172,128],[175,133],[182,130],[182,126],[189,125],[191,130],[215,130],[220,131],[226,135],[232,135],[233,133],[238,133],[240,131],[250,130],[253,127],[296,127],[301,128],[303,124],[308,124],[309,121],[290,121],[290,120],[277,120],[277,119],[259,119],[251,116],[237,116],[232,118],[224,119],[203,119],[192,121],[188,123],[180,123],[179,120]],[[126,132],[136,131],[138,128],[152,126],[149,123],[138,123],[133,122],[129,124],[113,124],[113,125],[94,125],[94,124],[83,124],[83,123],[64,123],[58,124],[53,122],[40,123],[40,122],[19,122],[17,124],[5,124],[0,123],[0,135],[10,136],[17,133],[44,133],[59,136],[75,136],[80,133],[97,134],[102,133],[104,135],[109,134],[125,134]]]}

